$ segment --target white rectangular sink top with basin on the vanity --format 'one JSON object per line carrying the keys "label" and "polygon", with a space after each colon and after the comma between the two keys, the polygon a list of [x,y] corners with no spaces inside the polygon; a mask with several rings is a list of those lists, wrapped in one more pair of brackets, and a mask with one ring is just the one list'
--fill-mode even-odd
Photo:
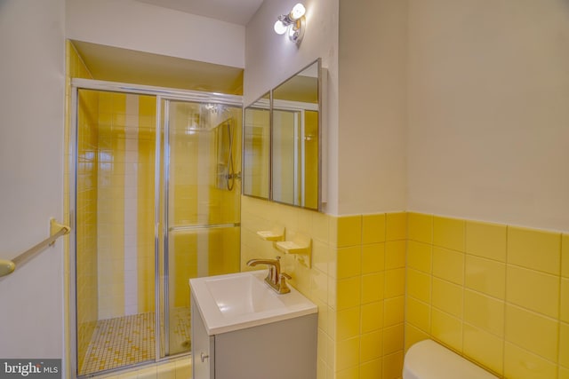
{"label": "white rectangular sink top with basin on the vanity", "polygon": [[290,293],[277,294],[265,283],[266,276],[262,270],[189,280],[208,335],[317,312],[317,305],[290,285]]}

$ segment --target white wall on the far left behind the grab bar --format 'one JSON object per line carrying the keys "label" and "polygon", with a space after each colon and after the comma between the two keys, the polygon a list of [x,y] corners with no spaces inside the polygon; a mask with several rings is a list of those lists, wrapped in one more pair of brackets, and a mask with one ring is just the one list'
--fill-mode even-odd
{"label": "white wall on the far left behind the grab bar", "polygon": [[[0,1],[0,258],[63,214],[65,1]],[[63,242],[0,280],[0,357],[63,356]]]}

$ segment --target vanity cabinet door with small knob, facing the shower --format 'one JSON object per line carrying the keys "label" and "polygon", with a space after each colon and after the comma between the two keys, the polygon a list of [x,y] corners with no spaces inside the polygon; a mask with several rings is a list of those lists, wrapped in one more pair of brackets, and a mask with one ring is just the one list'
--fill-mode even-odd
{"label": "vanity cabinet door with small knob, facing the shower", "polygon": [[192,378],[214,379],[215,378],[215,338],[208,336],[205,330],[204,320],[197,310],[196,301],[192,296]]}

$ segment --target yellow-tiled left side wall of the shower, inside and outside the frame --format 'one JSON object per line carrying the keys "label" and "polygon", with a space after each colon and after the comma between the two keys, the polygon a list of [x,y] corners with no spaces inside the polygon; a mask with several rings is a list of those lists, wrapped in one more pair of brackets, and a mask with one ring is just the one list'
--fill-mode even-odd
{"label": "yellow-tiled left side wall of the shower, inside and outside the frame", "polygon": [[[69,145],[70,120],[71,120],[71,78],[92,78],[83,60],[77,54],[73,44],[66,42],[66,122],[65,122],[65,146]],[[95,324],[97,322],[97,108],[98,99],[92,93],[84,93],[80,102],[86,105],[77,114],[77,127],[81,130],[81,138],[77,141],[77,175],[78,184],[83,191],[77,193],[77,225],[82,227],[76,230],[76,246],[80,252],[76,257],[77,275],[84,280],[77,283],[76,295],[80,311],[77,312],[77,355],[78,366],[84,361],[84,352],[91,340]],[[69,162],[71,153],[65,150],[64,159],[64,219],[65,225],[71,225],[69,216]],[[65,306],[64,312],[66,325],[66,346],[69,343],[69,243],[65,239]],[[71,356],[71,351],[66,351],[66,356]],[[66,359],[69,362],[69,359]]]}

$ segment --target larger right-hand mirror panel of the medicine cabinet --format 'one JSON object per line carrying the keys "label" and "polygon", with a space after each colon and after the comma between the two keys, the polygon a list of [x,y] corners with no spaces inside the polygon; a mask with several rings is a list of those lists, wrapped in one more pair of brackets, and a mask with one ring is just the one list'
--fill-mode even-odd
{"label": "larger right-hand mirror panel of the medicine cabinet", "polygon": [[272,200],[319,204],[319,60],[273,90]]}

